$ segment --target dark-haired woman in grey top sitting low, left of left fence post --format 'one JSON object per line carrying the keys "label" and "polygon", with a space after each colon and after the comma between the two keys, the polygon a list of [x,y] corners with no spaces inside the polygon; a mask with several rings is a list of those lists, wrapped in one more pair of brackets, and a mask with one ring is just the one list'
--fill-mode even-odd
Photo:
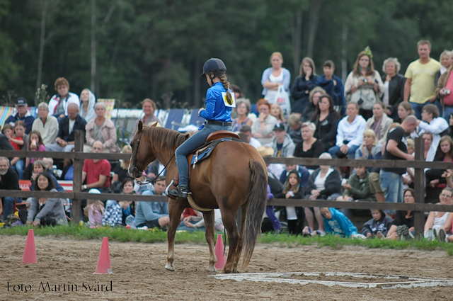
{"label": "dark-haired woman in grey top sitting low, left of left fence post", "polygon": [[[37,191],[57,192],[52,176],[47,172],[38,175],[35,181]],[[27,225],[55,226],[66,225],[67,219],[62,198],[31,198]]]}

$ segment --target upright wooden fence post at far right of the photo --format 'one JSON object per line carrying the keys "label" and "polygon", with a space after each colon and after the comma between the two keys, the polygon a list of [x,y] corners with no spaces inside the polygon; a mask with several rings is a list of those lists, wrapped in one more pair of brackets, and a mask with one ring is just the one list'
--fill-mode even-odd
{"label": "upright wooden fence post at far right of the photo", "polygon": [[[425,161],[425,143],[421,137],[415,138],[415,160]],[[425,169],[416,168],[414,178],[415,203],[425,203]],[[425,227],[425,212],[415,211],[413,214],[413,225],[415,227],[415,237],[423,237]]]}

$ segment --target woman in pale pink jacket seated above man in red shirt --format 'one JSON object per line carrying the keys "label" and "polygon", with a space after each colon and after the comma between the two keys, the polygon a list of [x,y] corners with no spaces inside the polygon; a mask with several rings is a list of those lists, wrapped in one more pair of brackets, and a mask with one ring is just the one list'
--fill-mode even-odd
{"label": "woman in pale pink jacket seated above man in red shirt", "polygon": [[117,153],[120,149],[116,145],[116,128],[110,118],[105,117],[105,104],[96,103],[94,106],[96,118],[86,124],[86,145],[84,152],[89,152],[95,141],[101,141],[104,152]]}

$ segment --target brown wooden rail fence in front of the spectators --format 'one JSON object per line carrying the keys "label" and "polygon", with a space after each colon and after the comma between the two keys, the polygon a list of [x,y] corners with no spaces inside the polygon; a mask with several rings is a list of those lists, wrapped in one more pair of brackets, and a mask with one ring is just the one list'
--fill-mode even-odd
{"label": "brown wooden rail fence in front of the spectators", "polygon": [[[21,157],[52,157],[54,159],[74,159],[74,188],[73,192],[48,192],[48,191],[7,191],[0,190],[0,198],[12,196],[17,198],[70,198],[73,208],[80,207],[80,200],[93,198],[93,195],[81,192],[81,177],[84,159],[130,159],[130,154],[92,154],[84,153],[83,132],[77,130],[75,135],[75,152],[21,152]],[[411,210],[414,214],[415,235],[423,235],[425,223],[425,211],[445,211],[453,212],[453,205],[425,204],[425,175],[424,169],[453,169],[453,163],[446,162],[425,162],[423,160],[424,144],[421,138],[415,139],[415,161],[404,160],[366,160],[360,164],[369,167],[412,167],[415,169],[415,203],[369,203],[369,202],[337,202],[334,200],[286,200],[273,199],[268,201],[268,205],[295,206],[295,207],[333,207],[349,209],[382,209],[382,210]],[[16,157],[16,151],[0,150],[0,157]],[[330,165],[330,166],[357,166],[355,159],[316,159],[316,158],[275,158],[267,157],[265,162],[268,164],[297,164],[297,165]],[[164,195],[124,195],[118,193],[101,193],[96,195],[98,200],[139,200],[149,202],[168,201]],[[78,224],[80,220],[80,210],[72,210],[72,222]]]}

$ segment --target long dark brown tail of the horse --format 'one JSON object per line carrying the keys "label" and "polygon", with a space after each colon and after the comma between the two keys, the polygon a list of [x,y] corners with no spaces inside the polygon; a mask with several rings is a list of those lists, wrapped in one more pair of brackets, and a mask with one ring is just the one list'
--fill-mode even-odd
{"label": "long dark brown tail of the horse", "polygon": [[261,230],[261,222],[263,220],[264,210],[266,208],[268,198],[268,177],[260,162],[251,159],[251,185],[247,197],[247,212],[246,220],[243,225],[243,261],[242,268],[246,268],[255,249],[256,237]]}

